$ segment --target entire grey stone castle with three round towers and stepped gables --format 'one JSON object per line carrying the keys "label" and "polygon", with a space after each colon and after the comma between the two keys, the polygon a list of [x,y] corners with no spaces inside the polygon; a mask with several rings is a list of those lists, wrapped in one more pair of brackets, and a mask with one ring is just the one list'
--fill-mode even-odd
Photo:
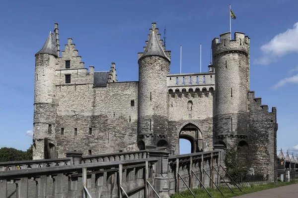
{"label": "entire grey stone castle with three round towers and stepped gables", "polygon": [[72,39],[60,55],[56,23],[35,54],[33,159],[156,147],[174,155],[182,138],[191,152],[246,147],[256,170],[274,174],[276,108],[268,112],[250,91],[249,37],[215,38],[206,73],[170,74],[162,42],[152,23],[138,53],[139,81],[118,82],[115,63],[109,71],[85,68]]}

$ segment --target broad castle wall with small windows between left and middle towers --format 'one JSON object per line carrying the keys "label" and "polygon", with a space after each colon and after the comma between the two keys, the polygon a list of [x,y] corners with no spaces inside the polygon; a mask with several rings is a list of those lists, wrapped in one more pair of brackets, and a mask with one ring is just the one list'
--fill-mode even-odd
{"label": "broad castle wall with small windows between left and middle towers", "polygon": [[138,82],[57,86],[56,93],[58,156],[74,149],[84,155],[137,150]]}

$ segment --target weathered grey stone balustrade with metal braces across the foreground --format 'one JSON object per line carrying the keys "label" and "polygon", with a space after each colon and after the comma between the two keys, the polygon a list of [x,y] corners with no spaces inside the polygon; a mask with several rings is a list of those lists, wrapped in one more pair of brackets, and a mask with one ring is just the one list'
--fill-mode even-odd
{"label": "weathered grey stone balustrade with metal braces across the foreground", "polygon": [[219,183],[213,170],[219,170],[220,150],[173,156],[166,148],[84,157],[78,151],[66,154],[67,158],[52,162],[15,162],[56,163],[48,167],[13,169],[13,163],[5,162],[11,170],[0,171],[0,198],[81,198],[84,185],[92,198],[122,198],[124,192],[131,198],[151,198],[155,197],[154,191],[169,198],[187,190],[186,185],[190,189],[199,187],[199,180],[205,187],[213,187],[208,175]]}

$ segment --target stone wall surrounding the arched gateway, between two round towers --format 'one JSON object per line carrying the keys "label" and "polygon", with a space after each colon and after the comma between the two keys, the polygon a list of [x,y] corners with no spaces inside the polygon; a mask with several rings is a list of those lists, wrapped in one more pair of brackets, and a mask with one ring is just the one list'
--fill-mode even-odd
{"label": "stone wall surrounding the arched gateway, between two round towers", "polygon": [[168,95],[168,136],[173,154],[179,154],[179,134],[191,123],[199,128],[203,137],[203,148],[213,149],[213,105],[214,92],[185,95]]}

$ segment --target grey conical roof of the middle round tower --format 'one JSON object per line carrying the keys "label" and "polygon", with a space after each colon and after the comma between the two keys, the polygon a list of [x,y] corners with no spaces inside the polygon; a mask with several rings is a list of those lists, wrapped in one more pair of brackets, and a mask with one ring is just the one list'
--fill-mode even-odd
{"label": "grey conical roof of the middle round tower", "polygon": [[147,45],[142,57],[148,56],[148,55],[156,55],[156,56],[161,56],[161,57],[165,57],[166,59],[168,59],[168,57],[166,57],[164,51],[162,50],[162,48],[157,40],[154,30],[152,30],[151,37],[149,39],[148,45]]}

